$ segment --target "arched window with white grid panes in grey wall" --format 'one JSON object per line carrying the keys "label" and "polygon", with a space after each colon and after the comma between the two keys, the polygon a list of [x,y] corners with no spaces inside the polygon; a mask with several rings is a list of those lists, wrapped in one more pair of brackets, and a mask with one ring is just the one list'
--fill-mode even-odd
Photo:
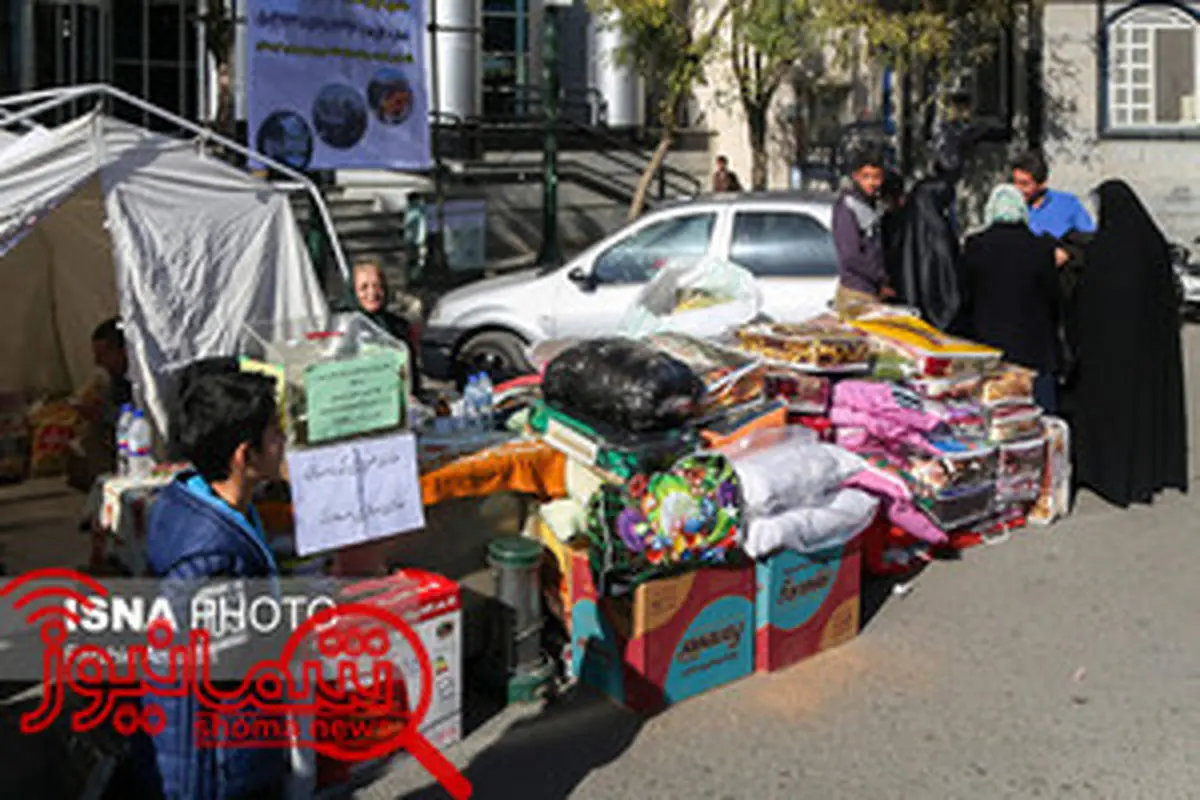
{"label": "arched window with white grid panes in grey wall", "polygon": [[1200,127],[1196,19],[1146,5],[1108,28],[1108,127],[1111,131]]}

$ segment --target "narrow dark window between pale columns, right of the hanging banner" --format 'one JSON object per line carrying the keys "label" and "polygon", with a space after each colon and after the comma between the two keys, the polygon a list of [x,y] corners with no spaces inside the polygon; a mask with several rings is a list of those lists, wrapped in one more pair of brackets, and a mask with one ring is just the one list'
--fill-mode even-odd
{"label": "narrow dark window between pale columns, right of the hanging banner", "polygon": [[529,0],[484,0],[484,116],[512,116],[528,101]]}

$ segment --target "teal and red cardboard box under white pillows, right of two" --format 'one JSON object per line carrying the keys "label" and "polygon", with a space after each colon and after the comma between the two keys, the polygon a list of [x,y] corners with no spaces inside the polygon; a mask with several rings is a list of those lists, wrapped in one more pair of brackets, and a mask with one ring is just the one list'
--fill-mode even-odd
{"label": "teal and red cardboard box under white pillows, right of two", "polygon": [[773,672],[858,636],[858,539],[812,553],[779,551],[755,566],[755,664]]}

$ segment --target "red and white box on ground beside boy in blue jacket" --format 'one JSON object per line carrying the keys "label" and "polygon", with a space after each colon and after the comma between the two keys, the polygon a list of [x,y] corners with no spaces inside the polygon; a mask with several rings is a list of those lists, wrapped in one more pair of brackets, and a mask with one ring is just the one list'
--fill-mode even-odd
{"label": "red and white box on ground beside boy in blue jacket", "polygon": [[[341,593],[340,601],[384,608],[408,621],[425,648],[432,669],[433,694],[418,730],[438,750],[462,739],[462,602],[458,584],[421,570],[400,570],[386,578],[348,587]],[[385,657],[398,662],[404,676],[406,710],[415,711],[421,699],[420,662],[398,632],[390,632],[389,644]],[[370,670],[370,664],[359,667],[360,675],[368,675]],[[403,751],[398,756],[407,758]],[[322,756],[318,759],[318,782],[344,781],[355,771],[371,766],[371,762],[341,762]]]}

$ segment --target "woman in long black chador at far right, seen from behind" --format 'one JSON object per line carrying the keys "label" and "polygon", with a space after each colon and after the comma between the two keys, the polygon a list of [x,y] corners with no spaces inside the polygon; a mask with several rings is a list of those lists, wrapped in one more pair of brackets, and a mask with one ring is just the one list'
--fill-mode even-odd
{"label": "woman in long black chador at far right, seen from behind", "polygon": [[1123,181],[1096,190],[1099,225],[1075,296],[1075,481],[1118,505],[1187,492],[1180,315],[1166,240]]}

